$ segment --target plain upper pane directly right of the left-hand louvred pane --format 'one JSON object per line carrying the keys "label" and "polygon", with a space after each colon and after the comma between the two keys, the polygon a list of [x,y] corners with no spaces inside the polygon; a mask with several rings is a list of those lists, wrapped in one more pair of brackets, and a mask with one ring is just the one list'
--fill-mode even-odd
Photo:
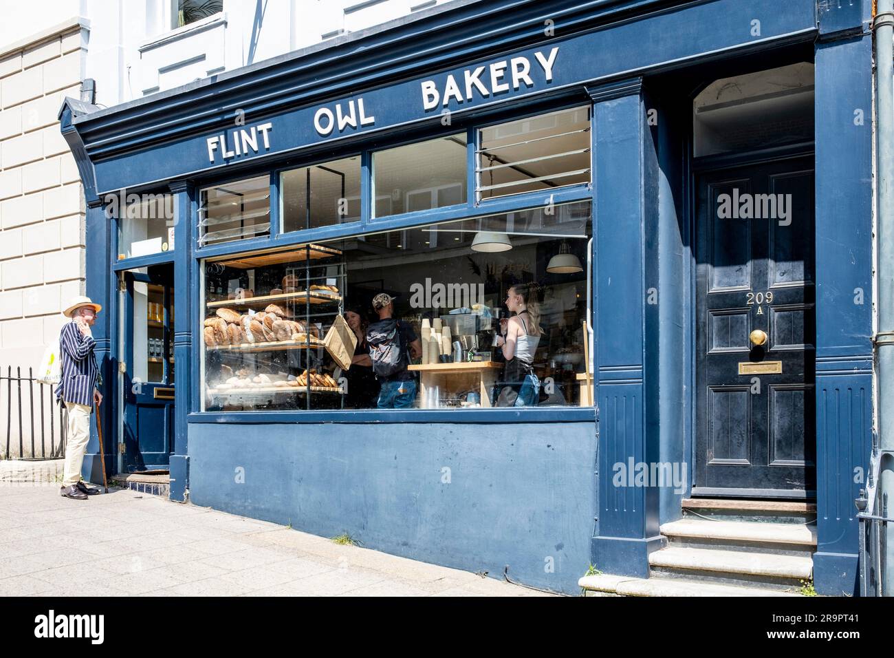
{"label": "plain upper pane directly right of the left-hand louvred pane", "polygon": [[360,157],[283,172],[282,192],[283,231],[357,221],[360,218]]}

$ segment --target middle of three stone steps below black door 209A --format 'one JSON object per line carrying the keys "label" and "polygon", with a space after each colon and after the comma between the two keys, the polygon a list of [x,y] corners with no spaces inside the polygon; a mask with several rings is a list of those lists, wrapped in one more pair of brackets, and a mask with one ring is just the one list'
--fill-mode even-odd
{"label": "middle of three stone steps below black door 209A", "polygon": [[675,546],[650,553],[649,565],[802,580],[810,578],[814,571],[814,560],[808,557]]}

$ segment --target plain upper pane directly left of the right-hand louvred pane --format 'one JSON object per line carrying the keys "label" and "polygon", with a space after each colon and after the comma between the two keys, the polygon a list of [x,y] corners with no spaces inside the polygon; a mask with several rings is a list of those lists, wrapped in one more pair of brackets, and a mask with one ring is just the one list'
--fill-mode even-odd
{"label": "plain upper pane directly left of the right-hand louvred pane", "polygon": [[373,154],[375,217],[443,208],[466,201],[466,135]]}

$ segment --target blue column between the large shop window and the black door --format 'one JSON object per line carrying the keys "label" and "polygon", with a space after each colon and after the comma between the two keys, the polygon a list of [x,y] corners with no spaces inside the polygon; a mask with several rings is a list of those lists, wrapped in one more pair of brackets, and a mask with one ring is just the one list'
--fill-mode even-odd
{"label": "blue column between the large shop window and the black door", "polygon": [[599,406],[599,517],[594,563],[605,573],[648,576],[661,546],[658,492],[635,480],[657,461],[646,440],[645,213],[653,186],[641,79],[589,90],[593,98],[595,368]]}

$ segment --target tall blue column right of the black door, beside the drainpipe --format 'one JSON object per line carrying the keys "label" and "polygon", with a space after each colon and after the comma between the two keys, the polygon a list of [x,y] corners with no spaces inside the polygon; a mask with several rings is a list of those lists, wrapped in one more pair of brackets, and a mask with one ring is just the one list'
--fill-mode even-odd
{"label": "tall blue column right of the black door, beside the drainpipe", "polygon": [[872,38],[816,46],[814,586],[854,594],[872,446]]}

